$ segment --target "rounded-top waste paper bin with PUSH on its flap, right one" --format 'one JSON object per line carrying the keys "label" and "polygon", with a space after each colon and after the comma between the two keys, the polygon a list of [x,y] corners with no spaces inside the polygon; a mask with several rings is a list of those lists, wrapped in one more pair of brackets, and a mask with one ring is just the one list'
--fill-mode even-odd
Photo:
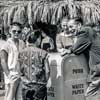
{"label": "rounded-top waste paper bin with PUSH on its flap, right one", "polygon": [[86,100],[89,67],[85,56],[66,55],[62,61],[64,79],[64,100]]}

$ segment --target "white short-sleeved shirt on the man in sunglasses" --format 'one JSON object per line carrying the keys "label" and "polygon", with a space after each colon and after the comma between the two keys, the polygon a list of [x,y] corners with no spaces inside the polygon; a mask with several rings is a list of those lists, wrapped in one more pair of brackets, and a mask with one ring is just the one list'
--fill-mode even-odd
{"label": "white short-sleeved shirt on the man in sunglasses", "polygon": [[8,53],[8,67],[9,69],[19,69],[18,67],[18,54],[19,51],[25,47],[25,44],[22,40],[19,40],[18,48],[12,41],[8,39],[6,43],[2,46],[1,50],[5,50]]}

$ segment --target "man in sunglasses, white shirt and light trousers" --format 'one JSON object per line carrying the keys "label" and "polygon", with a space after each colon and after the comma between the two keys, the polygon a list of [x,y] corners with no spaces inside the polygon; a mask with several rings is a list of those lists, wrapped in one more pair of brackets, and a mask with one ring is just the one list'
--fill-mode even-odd
{"label": "man in sunglasses, white shirt and light trousers", "polygon": [[11,38],[2,46],[0,57],[1,65],[5,76],[5,100],[21,100],[18,97],[20,89],[20,66],[18,64],[18,54],[25,47],[23,41],[19,40],[22,25],[13,22],[9,27]]}

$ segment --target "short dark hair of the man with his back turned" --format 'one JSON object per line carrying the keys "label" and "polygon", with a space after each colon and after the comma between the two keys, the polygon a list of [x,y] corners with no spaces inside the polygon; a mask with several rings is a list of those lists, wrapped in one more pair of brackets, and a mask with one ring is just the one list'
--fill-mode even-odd
{"label": "short dark hair of the man with his back turned", "polygon": [[35,43],[36,40],[41,36],[41,32],[38,30],[33,31],[27,38],[29,43]]}

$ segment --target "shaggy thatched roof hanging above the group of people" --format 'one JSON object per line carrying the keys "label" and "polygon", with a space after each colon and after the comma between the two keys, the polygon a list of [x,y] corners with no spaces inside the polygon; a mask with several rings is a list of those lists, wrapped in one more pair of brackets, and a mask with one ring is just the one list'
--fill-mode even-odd
{"label": "shaggy thatched roof hanging above the group of people", "polygon": [[100,20],[100,3],[89,1],[68,2],[67,0],[59,2],[16,1],[8,3],[1,10],[0,16],[1,23],[5,27],[9,26],[13,21],[22,24],[26,22],[29,24],[45,22],[57,25],[63,17],[73,18],[77,16],[81,16],[84,23],[96,23]]}

